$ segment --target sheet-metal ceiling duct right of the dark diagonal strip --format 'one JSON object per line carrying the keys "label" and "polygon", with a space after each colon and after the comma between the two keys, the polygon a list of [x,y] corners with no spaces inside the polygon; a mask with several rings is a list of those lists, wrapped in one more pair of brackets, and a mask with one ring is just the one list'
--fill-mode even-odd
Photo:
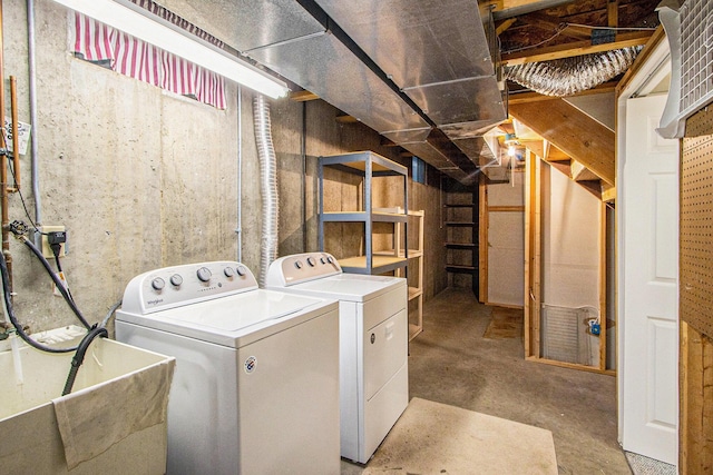
{"label": "sheet-metal ceiling duct right of the dark diagonal strip", "polygon": [[[440,129],[422,140],[385,136],[439,170],[471,181],[482,151],[473,142],[485,145],[482,135],[507,119],[489,12],[481,17],[470,0],[315,1]],[[438,133],[469,161],[448,159],[460,154],[445,154]]]}

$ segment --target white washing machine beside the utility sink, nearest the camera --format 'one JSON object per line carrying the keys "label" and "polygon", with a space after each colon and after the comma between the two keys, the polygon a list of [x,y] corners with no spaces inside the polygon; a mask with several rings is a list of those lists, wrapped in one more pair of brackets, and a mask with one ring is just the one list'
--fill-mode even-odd
{"label": "white washing machine beside the utility sink, nearest the camera", "polygon": [[128,284],[116,337],[176,357],[168,474],[339,474],[336,301],[238,263],[167,267]]}

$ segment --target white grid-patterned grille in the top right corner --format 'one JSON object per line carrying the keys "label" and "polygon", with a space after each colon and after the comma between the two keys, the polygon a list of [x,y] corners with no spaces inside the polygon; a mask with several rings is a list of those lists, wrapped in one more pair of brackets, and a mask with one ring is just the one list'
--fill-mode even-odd
{"label": "white grid-patterned grille in the top right corner", "polygon": [[687,0],[681,8],[682,115],[713,99],[713,2]]}

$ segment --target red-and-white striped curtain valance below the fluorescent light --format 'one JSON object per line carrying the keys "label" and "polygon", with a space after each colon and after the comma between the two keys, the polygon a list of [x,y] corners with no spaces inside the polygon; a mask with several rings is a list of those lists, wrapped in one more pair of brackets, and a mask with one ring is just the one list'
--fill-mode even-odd
{"label": "red-and-white striped curtain valance below the fluorescent light", "polygon": [[222,76],[81,13],[75,13],[74,44],[75,53],[87,61],[108,60],[111,69],[125,76],[226,108]]}

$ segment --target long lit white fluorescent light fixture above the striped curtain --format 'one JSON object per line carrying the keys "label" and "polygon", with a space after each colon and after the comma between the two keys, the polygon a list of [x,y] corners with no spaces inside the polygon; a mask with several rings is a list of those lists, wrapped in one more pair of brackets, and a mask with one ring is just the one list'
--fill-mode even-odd
{"label": "long lit white fluorescent light fixture above the striped curtain", "polygon": [[279,79],[197,37],[191,37],[188,32],[134,3],[114,0],[55,1],[273,99],[287,95],[287,86]]}

